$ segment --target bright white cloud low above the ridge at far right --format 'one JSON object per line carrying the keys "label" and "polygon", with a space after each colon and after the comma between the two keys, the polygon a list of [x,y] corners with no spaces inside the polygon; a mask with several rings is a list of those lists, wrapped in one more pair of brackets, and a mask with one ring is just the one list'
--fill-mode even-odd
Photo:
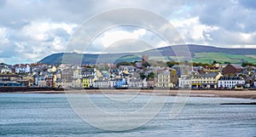
{"label": "bright white cloud low above the ridge at far right", "polygon": [[[200,43],[217,47],[255,48],[256,31],[229,31],[220,26],[202,24],[199,17],[187,20],[174,20],[173,26],[177,28],[185,43]],[[247,45],[247,46],[244,46]]]}

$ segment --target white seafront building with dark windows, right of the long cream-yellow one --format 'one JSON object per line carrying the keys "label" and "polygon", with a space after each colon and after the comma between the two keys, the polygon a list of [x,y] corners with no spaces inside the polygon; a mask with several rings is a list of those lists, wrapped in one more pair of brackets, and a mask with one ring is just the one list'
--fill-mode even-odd
{"label": "white seafront building with dark windows, right of the long cream-yellow one", "polygon": [[242,77],[220,77],[218,79],[218,88],[235,88],[236,84],[245,84]]}

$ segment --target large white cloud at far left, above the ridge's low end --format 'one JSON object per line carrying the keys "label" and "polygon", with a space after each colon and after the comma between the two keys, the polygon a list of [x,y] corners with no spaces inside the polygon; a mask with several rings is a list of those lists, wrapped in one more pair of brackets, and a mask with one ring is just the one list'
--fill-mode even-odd
{"label": "large white cloud at far left, above the ridge's low end", "polygon": [[49,54],[62,52],[76,24],[52,21],[32,21],[19,30],[0,29],[0,58],[11,62],[37,62]]}

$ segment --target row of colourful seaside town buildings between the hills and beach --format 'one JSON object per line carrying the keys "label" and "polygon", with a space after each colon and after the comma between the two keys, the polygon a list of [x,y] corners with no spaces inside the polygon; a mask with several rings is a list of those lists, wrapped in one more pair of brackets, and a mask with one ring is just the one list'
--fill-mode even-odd
{"label": "row of colourful seaside town buildings between the hills and beach", "polygon": [[213,68],[147,66],[148,55],[134,66],[47,66],[0,64],[0,87],[40,88],[256,88],[255,66],[228,64]]}

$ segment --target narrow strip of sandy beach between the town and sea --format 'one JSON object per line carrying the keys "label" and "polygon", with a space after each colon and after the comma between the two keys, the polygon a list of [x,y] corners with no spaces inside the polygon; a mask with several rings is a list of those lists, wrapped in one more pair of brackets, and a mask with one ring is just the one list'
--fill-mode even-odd
{"label": "narrow strip of sandy beach between the town and sea", "polygon": [[81,89],[49,91],[15,91],[1,94],[128,94],[128,95],[167,95],[212,98],[241,98],[256,100],[255,90],[175,90],[175,89]]}

